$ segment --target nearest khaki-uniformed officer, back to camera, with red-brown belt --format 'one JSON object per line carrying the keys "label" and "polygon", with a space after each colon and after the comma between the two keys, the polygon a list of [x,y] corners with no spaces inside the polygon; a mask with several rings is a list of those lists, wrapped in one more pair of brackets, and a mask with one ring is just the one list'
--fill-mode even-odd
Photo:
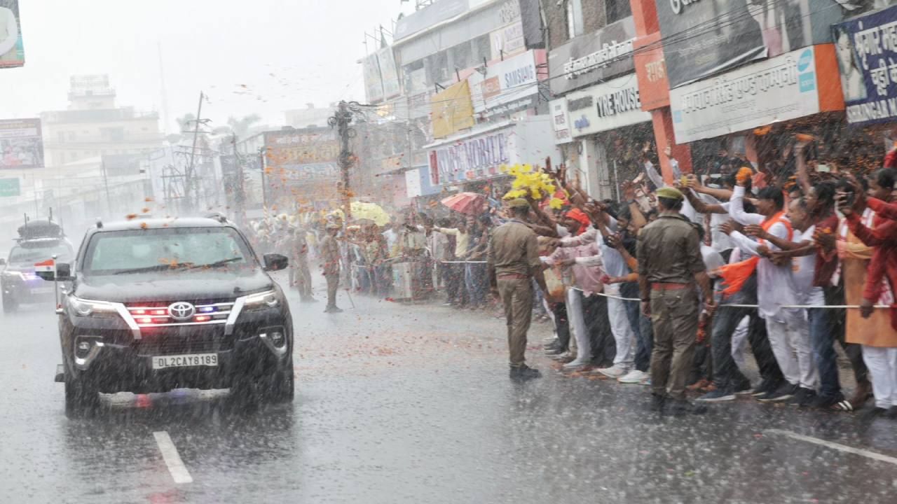
{"label": "nearest khaki-uniformed officer, back to camera, with red-brown belt", "polygon": [[698,291],[705,308],[715,308],[710,278],[701,258],[701,240],[679,211],[684,196],[673,187],[657,192],[660,216],[639,233],[638,261],[641,308],[654,325],[651,353],[651,394],[654,409],[667,398],[674,413],[703,413],[685,399],[685,380],[692,365],[700,313]]}

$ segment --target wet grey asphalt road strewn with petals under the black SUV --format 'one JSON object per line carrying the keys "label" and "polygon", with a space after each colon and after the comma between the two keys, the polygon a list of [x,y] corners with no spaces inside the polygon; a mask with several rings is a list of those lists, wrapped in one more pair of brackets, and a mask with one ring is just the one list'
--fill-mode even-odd
{"label": "wet grey asphalt road strewn with petals under the black SUV", "polygon": [[[0,502],[897,501],[897,422],[749,399],[658,416],[643,387],[564,377],[535,350],[548,376],[514,385],[501,320],[355,303],[292,303],[293,404],[114,395],[78,421],[53,383],[52,308],[0,316]],[[174,482],[154,432],[192,482]]]}

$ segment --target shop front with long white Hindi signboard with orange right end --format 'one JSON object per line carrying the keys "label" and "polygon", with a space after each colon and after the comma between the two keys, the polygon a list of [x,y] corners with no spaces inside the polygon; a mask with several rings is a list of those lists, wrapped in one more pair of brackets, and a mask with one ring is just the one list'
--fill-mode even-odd
{"label": "shop front with long white Hindi signboard with orange right end", "polygon": [[[843,109],[832,44],[800,48],[670,90],[675,142],[690,144],[695,170],[701,173],[712,171],[718,158],[790,173],[794,135],[832,137],[834,142],[843,126]],[[832,142],[819,148],[831,149]]]}

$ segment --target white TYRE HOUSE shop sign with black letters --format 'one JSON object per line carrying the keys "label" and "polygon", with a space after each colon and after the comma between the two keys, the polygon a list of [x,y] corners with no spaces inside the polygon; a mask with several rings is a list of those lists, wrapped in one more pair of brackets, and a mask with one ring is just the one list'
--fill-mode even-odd
{"label": "white TYRE HOUSE shop sign with black letters", "polygon": [[592,135],[651,120],[650,112],[641,109],[635,74],[571,92],[566,101],[573,136]]}

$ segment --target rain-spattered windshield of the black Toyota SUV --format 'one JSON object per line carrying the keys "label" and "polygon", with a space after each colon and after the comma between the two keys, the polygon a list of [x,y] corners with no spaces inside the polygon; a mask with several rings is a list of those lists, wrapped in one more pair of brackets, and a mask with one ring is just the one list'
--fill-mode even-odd
{"label": "rain-spattered windshield of the black Toyota SUV", "polygon": [[231,228],[165,228],[93,235],[83,273],[137,274],[255,268],[246,241]]}

